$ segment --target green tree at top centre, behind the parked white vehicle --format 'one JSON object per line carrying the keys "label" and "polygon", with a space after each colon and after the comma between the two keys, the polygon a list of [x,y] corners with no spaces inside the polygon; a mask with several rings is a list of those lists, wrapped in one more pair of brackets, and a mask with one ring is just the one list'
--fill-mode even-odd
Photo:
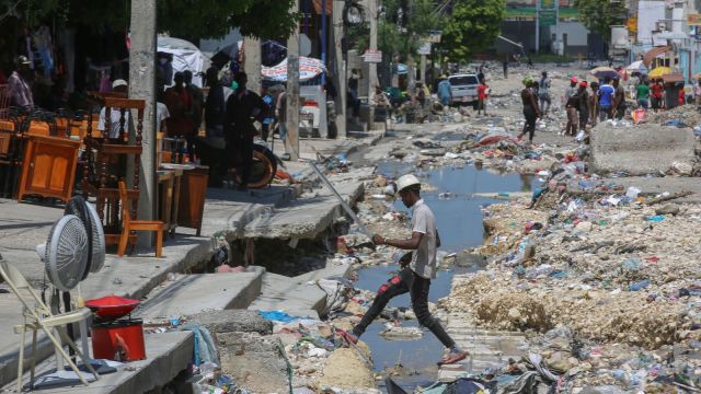
{"label": "green tree at top centre, behind the parked white vehicle", "polygon": [[455,0],[443,26],[440,48],[450,59],[468,61],[486,49],[501,33],[505,0]]}

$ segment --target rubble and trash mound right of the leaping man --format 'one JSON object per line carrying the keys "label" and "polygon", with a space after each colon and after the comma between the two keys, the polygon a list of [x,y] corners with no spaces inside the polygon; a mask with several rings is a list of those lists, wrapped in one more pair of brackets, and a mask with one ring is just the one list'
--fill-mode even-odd
{"label": "rubble and trash mound right of the leaping man", "polygon": [[484,210],[474,253],[491,263],[456,276],[439,306],[530,333],[524,350],[562,374],[559,389],[701,391],[701,207],[568,170]]}

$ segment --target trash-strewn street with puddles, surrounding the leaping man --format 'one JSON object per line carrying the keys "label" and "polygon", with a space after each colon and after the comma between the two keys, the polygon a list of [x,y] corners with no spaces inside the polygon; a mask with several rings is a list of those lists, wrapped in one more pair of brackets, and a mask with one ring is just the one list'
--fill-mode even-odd
{"label": "trash-strewn street with puddles, surrounding the leaping man", "polygon": [[[553,91],[572,76],[551,73]],[[376,166],[357,204],[374,233],[409,236],[409,210],[388,185],[420,176],[444,240],[432,309],[471,352],[437,368],[443,346],[420,328],[409,296],[398,297],[363,337],[378,387],[387,390],[387,376],[407,391],[459,376],[499,390],[532,379],[574,393],[693,386],[700,293],[690,262],[700,211],[691,193],[679,193],[683,174],[597,173],[591,147],[561,135],[565,116],[556,103],[539,120],[535,144],[517,142],[522,116],[514,82],[492,83],[492,116],[393,125],[348,157]],[[686,116],[679,114],[657,125]],[[606,123],[591,132],[611,127],[636,126]],[[371,292],[397,273],[397,253],[378,246],[347,254],[357,259],[354,285],[365,294],[349,301],[360,305],[353,306],[356,322]]]}

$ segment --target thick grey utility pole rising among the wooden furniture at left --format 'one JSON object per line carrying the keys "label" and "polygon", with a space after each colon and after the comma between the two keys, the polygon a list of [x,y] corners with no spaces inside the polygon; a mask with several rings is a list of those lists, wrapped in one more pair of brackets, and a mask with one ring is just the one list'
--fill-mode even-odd
{"label": "thick grey utility pole rising among the wooden furniture at left", "polygon": [[[140,220],[156,219],[156,0],[131,1],[129,99],[146,101],[141,130]],[[138,233],[138,245],[151,247],[150,231]]]}

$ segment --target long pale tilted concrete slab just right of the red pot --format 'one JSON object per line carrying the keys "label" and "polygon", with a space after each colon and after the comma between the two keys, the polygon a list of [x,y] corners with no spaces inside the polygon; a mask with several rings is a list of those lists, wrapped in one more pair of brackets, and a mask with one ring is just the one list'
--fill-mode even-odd
{"label": "long pale tilted concrete slab just right of the red pot", "polygon": [[149,323],[164,323],[171,317],[204,311],[242,309],[260,294],[263,267],[249,267],[237,274],[186,275],[157,290],[137,315]]}

